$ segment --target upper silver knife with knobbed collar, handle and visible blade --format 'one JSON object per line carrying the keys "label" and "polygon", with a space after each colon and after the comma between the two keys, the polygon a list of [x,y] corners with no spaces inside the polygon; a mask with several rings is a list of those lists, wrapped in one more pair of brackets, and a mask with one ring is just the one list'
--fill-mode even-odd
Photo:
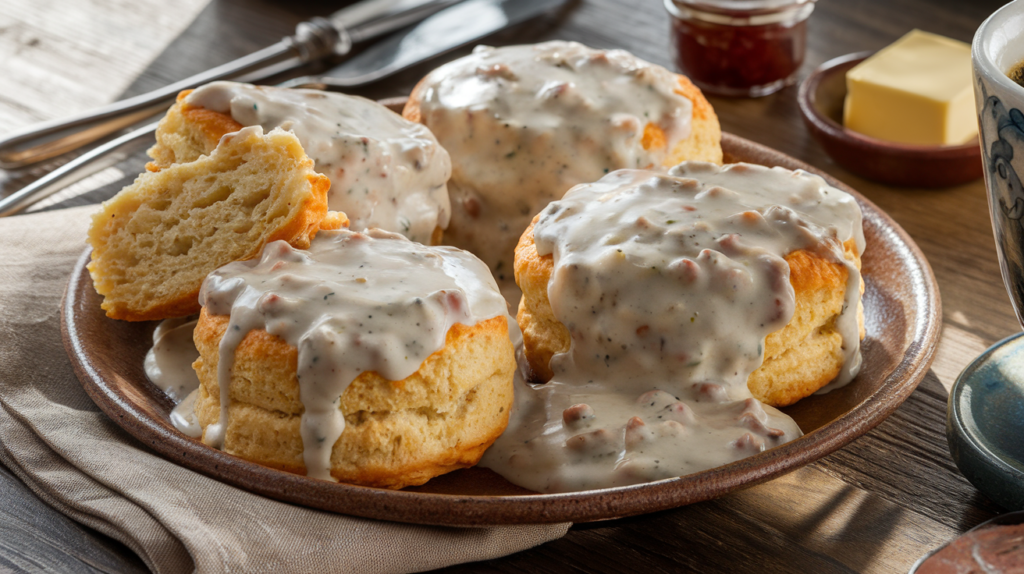
{"label": "upper silver knife with knobbed collar, handle and visible blade", "polygon": [[247,80],[258,81],[327,56],[345,55],[355,43],[406,28],[459,1],[366,0],[327,18],[312,18],[296,27],[295,35],[234,61],[145,94],[9,134],[0,139],[0,168],[19,168],[77,149],[166,109],[187,88],[246,73],[250,73]]}

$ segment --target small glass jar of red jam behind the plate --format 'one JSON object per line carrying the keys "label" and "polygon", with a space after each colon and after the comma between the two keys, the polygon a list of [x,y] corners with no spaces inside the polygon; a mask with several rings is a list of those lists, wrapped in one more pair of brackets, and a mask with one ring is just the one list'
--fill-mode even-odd
{"label": "small glass jar of red jam behind the plate", "polygon": [[796,81],[814,0],[665,0],[676,69],[701,90],[758,97]]}

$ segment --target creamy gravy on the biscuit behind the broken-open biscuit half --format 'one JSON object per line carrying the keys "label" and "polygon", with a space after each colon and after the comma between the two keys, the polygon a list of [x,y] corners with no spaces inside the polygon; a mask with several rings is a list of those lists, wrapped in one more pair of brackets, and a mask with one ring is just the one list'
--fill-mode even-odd
{"label": "creamy gravy on the biscuit behind the broken-open biscuit half", "polygon": [[292,131],[317,172],[328,204],[353,229],[379,227],[429,244],[452,213],[447,152],[430,130],[366,98],[318,90],[213,82],[185,97],[243,126]]}

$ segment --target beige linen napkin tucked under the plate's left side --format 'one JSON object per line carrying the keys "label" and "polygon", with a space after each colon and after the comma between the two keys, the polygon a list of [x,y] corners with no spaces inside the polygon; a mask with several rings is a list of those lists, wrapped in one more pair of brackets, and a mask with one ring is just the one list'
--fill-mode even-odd
{"label": "beige linen napkin tucked under the plate's left side", "polygon": [[0,460],[157,572],[417,572],[516,553],[567,524],[437,528],[264,498],[148,451],[92,403],[59,305],[94,207],[0,219]]}

